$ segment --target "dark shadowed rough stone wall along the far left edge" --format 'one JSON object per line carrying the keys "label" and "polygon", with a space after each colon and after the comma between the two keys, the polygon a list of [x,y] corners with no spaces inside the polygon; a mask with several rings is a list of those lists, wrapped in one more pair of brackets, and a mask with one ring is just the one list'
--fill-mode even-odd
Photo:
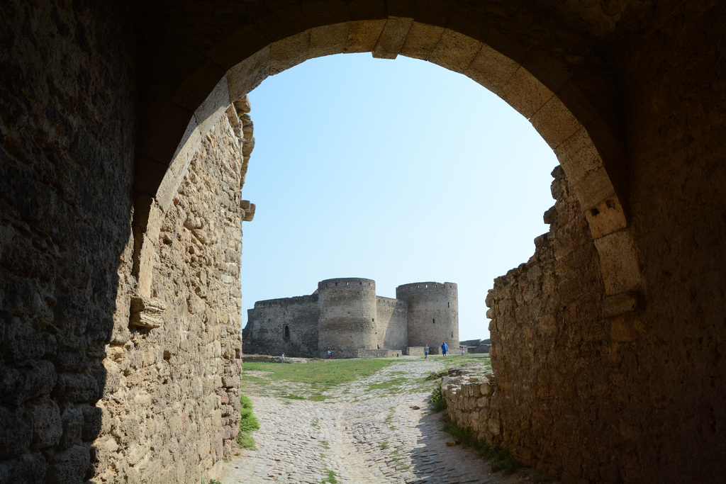
{"label": "dark shadowed rough stone wall along the far left edge", "polygon": [[125,5],[0,4],[0,483],[92,475],[131,255]]}

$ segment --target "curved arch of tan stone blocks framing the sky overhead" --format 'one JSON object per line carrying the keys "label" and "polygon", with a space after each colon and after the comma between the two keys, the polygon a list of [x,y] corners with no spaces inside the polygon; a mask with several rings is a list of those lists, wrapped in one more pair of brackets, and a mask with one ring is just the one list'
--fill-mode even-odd
{"label": "curved arch of tan stone blocks framing the sky overhead", "polygon": [[[404,55],[428,60],[467,75],[529,119],[555,151],[585,210],[600,254],[606,316],[635,309],[633,293],[642,289],[642,279],[624,202],[627,183],[617,126],[611,113],[601,115],[592,106],[566,62],[523,49],[494,30],[475,38],[412,17],[332,22],[330,12],[314,14],[319,17],[285,10],[277,12],[275,20],[268,17],[271,24],[258,22],[236,30],[208,49],[205,60],[174,94],[155,106],[139,141],[135,175],[135,267],[142,297],[150,292],[153,241],[158,239],[161,216],[200,140],[227,107],[269,75],[305,60],[371,52],[382,59]],[[303,18],[317,26],[295,31],[305,25]],[[289,35],[268,41],[277,36],[264,25],[277,25],[277,36]]]}

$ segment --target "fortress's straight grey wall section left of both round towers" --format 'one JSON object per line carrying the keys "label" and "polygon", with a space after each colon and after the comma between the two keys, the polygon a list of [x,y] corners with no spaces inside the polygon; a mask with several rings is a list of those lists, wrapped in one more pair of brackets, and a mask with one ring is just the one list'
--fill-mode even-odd
{"label": "fortress's straight grey wall section left of both round towers", "polygon": [[242,332],[245,353],[317,357],[319,318],[317,295],[257,301]]}

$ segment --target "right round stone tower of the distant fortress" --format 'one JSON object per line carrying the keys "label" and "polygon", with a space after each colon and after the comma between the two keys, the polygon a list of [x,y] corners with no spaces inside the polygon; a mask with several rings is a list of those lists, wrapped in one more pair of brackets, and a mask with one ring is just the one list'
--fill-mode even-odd
{"label": "right round stone tower of the distant fortress", "polygon": [[414,282],[396,287],[408,303],[409,346],[459,347],[459,295],[453,282]]}

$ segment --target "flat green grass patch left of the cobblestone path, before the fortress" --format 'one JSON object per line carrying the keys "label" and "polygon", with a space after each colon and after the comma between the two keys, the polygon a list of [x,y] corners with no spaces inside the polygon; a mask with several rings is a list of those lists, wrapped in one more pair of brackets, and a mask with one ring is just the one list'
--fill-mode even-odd
{"label": "flat green grass patch left of the cobblestone path, before the fortress", "polygon": [[[323,395],[326,390],[352,382],[359,378],[368,377],[380,369],[393,364],[395,359],[365,358],[351,360],[311,360],[306,364],[279,364],[279,363],[245,363],[242,374],[242,385],[248,390],[264,391],[270,383],[292,382],[301,384],[300,398],[312,401],[322,401],[328,398]],[[248,373],[253,372],[252,378]],[[285,387],[285,398],[290,396],[290,387]]]}

